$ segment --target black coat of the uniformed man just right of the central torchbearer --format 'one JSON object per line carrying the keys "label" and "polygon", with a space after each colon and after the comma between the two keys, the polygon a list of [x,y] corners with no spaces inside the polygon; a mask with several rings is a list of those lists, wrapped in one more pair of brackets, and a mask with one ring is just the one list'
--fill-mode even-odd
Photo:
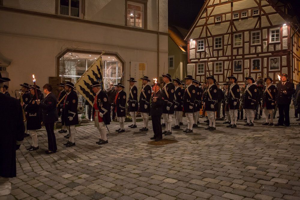
{"label": "black coat of the uniformed man just right of the central torchbearer", "polygon": [[[163,106],[163,113],[174,114],[174,90],[175,85],[172,82],[165,84],[162,89],[165,102]],[[170,107],[170,110],[167,110],[167,107]]]}

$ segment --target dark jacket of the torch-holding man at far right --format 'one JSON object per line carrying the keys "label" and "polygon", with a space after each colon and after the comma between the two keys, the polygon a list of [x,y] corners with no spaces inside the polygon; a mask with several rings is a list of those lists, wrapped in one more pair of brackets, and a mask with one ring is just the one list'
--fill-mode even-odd
{"label": "dark jacket of the torch-holding man at far right", "polygon": [[[277,83],[277,97],[276,103],[279,105],[289,105],[292,101],[292,95],[295,94],[294,83],[286,82],[284,85],[282,83]],[[286,91],[287,94],[283,94],[283,91]]]}

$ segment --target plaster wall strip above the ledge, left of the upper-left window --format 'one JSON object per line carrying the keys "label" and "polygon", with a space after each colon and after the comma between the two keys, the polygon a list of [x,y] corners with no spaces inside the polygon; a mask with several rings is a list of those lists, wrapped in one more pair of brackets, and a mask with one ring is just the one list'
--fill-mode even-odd
{"label": "plaster wall strip above the ledge, left of the upper-left window", "polygon": [[55,14],[55,0],[3,0],[3,6]]}

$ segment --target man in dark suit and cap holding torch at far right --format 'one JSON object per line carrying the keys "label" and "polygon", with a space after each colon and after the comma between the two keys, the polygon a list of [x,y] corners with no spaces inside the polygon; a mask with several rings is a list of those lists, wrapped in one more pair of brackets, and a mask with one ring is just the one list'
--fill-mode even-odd
{"label": "man in dark suit and cap holding torch at far right", "polygon": [[295,94],[294,83],[287,81],[287,74],[281,75],[281,82],[277,83],[276,104],[279,112],[278,123],[275,126],[289,126],[289,105],[292,101],[292,95]]}

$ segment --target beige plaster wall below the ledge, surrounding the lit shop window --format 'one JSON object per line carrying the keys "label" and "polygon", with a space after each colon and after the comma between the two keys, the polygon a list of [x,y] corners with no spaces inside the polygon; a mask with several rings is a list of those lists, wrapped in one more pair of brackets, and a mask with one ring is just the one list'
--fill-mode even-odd
{"label": "beige plaster wall below the ledge, surrounding the lit shop window", "polygon": [[[125,61],[125,80],[129,79],[130,61],[146,62],[145,74],[157,77],[157,34],[6,11],[0,11],[0,18],[5,19],[0,20],[0,52],[12,60],[7,67],[10,90],[19,89],[22,82],[31,83],[33,73],[37,85],[48,83],[49,76],[56,76],[55,56],[61,46],[118,53]],[[167,62],[168,36],[160,35],[159,74],[167,71]],[[125,87],[127,84],[125,81]]]}

